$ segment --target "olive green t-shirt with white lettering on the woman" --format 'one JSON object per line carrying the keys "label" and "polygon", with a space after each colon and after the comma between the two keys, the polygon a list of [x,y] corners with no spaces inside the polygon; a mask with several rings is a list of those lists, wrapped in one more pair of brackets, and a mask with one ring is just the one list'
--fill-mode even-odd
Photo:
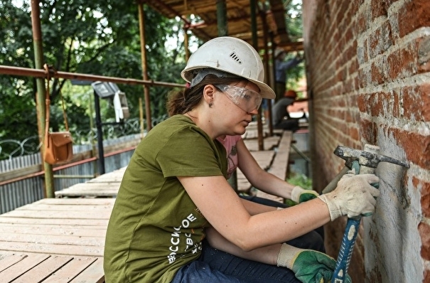
{"label": "olive green t-shirt with white lettering on the woman", "polygon": [[176,176],[226,171],[222,144],[188,117],[176,115],[151,129],[131,157],[109,219],[106,282],[171,282],[196,260],[209,224]]}

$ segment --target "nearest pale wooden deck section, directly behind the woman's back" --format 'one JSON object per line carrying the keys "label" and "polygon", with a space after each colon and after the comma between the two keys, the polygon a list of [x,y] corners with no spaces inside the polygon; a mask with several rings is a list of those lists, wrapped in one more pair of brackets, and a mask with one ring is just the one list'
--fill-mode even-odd
{"label": "nearest pale wooden deck section, directly behind the woman's back", "polygon": [[113,198],[45,198],[0,215],[0,283],[104,282]]}

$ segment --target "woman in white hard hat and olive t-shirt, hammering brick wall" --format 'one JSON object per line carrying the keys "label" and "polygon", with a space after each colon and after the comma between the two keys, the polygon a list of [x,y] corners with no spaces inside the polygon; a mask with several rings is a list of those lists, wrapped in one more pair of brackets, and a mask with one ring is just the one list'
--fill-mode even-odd
{"label": "woman in white hard hat and olive t-shirt, hammering brick wall", "polygon": [[151,129],[124,173],[107,228],[106,282],[330,277],[332,259],[283,242],[341,215],[372,213],[379,192],[369,183],[378,178],[347,176],[326,196],[282,210],[242,200],[226,180],[226,152],[216,139],[243,134],[262,97],[274,98],[262,61],[244,41],[214,38],[181,75],[190,88],[170,100],[176,115]]}

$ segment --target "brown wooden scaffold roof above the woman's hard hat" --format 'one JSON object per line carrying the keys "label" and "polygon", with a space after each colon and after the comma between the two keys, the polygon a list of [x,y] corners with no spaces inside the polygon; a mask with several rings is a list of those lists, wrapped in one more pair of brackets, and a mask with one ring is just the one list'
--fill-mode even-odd
{"label": "brown wooden scaffold roof above the woman's hard hat", "polygon": [[[195,36],[208,41],[218,36],[217,26],[217,1],[213,0],[142,0],[143,3],[151,6],[167,18],[180,17],[184,21],[184,28],[187,28]],[[266,36],[267,41],[273,42],[276,46],[286,49],[295,46],[286,31],[285,9],[282,0],[255,0],[257,3],[256,23],[258,48],[264,48],[264,31],[269,31]],[[267,4],[269,3],[269,6]],[[241,38],[252,44],[252,16],[250,0],[225,0],[225,11],[227,21],[227,34]],[[198,18],[191,23],[190,16]],[[300,45],[300,44],[299,44]]]}

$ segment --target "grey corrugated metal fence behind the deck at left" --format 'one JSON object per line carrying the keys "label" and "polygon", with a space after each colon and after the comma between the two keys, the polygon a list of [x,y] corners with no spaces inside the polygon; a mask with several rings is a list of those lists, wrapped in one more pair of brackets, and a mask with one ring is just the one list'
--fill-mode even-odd
{"label": "grey corrugated metal fence behind the deck at left", "polygon": [[[140,142],[140,134],[130,134],[117,139],[107,139],[103,146],[107,149],[106,173],[127,166],[134,148]],[[91,144],[74,145],[75,156],[82,159],[54,167],[55,191],[68,188],[76,183],[84,183],[97,176],[96,157],[90,156]],[[6,213],[22,205],[33,203],[45,197],[44,174],[41,154],[27,154],[0,161],[0,213]]]}

